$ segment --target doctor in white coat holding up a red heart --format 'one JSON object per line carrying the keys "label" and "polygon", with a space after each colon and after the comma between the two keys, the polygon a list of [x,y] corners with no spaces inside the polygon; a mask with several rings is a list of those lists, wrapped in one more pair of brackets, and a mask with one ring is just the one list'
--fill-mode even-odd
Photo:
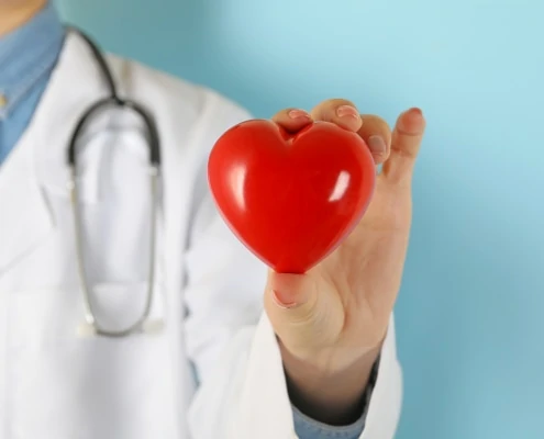
{"label": "doctor in white coat holding up a red heart", "polygon": [[[159,190],[148,126],[112,106],[75,142],[73,204],[68,146],[111,94],[107,77],[52,4],[0,0],[0,438],[391,439],[421,112],[392,132],[340,99],[276,114],[290,130],[310,117],[353,130],[384,164],[345,244],[306,275],[277,274],[233,238],[207,187],[211,146],[249,114],[133,61],[107,67],[156,124]],[[147,297],[145,323],[119,336]]]}

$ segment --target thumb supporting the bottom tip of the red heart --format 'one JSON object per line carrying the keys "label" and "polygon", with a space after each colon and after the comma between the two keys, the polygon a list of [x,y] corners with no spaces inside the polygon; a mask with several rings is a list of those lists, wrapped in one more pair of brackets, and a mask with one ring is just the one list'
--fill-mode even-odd
{"label": "thumb supporting the bottom tip of the red heart", "polygon": [[334,342],[343,327],[340,297],[311,274],[270,271],[265,308],[281,342],[299,351]]}

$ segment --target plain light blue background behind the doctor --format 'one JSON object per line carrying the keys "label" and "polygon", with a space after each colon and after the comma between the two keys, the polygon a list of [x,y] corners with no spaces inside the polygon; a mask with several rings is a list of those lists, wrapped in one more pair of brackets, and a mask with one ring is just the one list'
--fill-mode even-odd
{"label": "plain light blue background behind the doctor", "polygon": [[544,438],[541,0],[59,4],[108,49],[257,116],[332,97],[391,123],[421,106],[398,438]]}

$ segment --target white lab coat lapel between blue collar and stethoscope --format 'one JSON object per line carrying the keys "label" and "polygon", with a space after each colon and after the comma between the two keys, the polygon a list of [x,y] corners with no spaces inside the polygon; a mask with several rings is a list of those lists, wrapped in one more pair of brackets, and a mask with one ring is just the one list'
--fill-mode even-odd
{"label": "white lab coat lapel between blue collar and stethoscope", "polygon": [[[46,192],[68,198],[66,148],[84,111],[107,89],[81,38],[65,47],[36,113],[0,167],[0,278],[30,255],[55,225]],[[90,171],[89,171],[90,175]],[[84,202],[98,196],[99,176],[86,184]]]}

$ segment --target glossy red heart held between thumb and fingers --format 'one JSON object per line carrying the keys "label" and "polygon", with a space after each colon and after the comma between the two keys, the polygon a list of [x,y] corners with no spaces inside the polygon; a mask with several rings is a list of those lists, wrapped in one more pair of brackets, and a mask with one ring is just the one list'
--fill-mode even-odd
{"label": "glossy red heart held between thumb and fingers", "polygon": [[289,134],[256,120],[215,143],[208,178],[236,237],[275,271],[303,273],[357,225],[376,168],[365,142],[337,125],[315,122]]}

